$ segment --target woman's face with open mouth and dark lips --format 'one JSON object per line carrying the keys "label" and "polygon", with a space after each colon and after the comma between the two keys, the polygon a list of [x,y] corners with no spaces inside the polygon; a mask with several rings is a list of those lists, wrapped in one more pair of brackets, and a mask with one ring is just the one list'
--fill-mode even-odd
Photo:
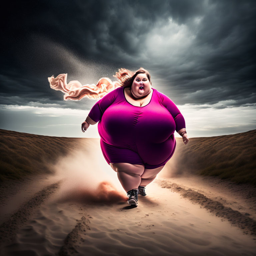
{"label": "woman's face with open mouth and dark lips", "polygon": [[151,92],[151,84],[145,73],[138,74],[135,77],[132,83],[131,92],[135,98],[146,96]]}

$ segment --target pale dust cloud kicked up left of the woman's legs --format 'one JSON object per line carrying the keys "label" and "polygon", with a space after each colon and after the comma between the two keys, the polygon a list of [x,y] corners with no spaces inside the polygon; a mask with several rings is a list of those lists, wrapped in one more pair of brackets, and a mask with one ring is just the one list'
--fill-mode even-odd
{"label": "pale dust cloud kicked up left of the woman's legs", "polygon": [[54,179],[62,179],[55,199],[59,202],[118,203],[126,201],[116,172],[106,163],[98,140],[85,139],[77,149],[49,166]]}

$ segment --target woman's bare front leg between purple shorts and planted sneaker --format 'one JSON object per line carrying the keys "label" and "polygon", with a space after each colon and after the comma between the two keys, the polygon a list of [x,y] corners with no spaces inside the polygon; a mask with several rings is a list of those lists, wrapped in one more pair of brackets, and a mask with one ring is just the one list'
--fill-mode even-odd
{"label": "woman's bare front leg between purple shorts and planted sneaker", "polygon": [[141,183],[141,174],[144,172],[143,164],[114,163],[110,164],[126,192],[138,189]]}

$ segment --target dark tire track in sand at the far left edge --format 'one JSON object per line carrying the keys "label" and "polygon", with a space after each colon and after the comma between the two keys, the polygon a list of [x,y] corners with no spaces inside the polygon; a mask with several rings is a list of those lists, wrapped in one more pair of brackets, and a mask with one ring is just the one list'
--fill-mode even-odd
{"label": "dark tire track in sand at the far left edge", "polygon": [[21,204],[18,210],[0,225],[0,245],[12,241],[18,229],[26,223],[34,210],[59,188],[61,182],[62,180],[59,180],[35,193],[31,199]]}

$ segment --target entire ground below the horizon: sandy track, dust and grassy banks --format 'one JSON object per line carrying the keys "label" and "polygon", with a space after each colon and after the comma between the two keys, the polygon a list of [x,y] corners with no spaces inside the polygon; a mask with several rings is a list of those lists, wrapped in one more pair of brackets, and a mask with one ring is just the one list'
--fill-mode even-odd
{"label": "entire ground below the horizon: sandy track, dust and grassy banks", "polygon": [[[127,204],[98,139],[1,133],[1,161],[12,172],[1,169],[0,255],[255,255],[256,187],[230,180],[242,177],[244,182],[255,173],[239,176],[240,164],[227,171],[229,179],[196,174],[207,162],[214,164],[210,154],[216,162],[218,152],[205,153],[207,160],[202,156],[214,141],[222,154],[232,151],[224,146],[230,138],[247,154],[243,141],[255,131],[191,138],[188,148],[177,139],[175,158],[135,208]],[[196,161],[190,154],[200,161],[197,171],[188,164]],[[23,164],[30,159],[29,171],[17,164],[20,159]]]}

